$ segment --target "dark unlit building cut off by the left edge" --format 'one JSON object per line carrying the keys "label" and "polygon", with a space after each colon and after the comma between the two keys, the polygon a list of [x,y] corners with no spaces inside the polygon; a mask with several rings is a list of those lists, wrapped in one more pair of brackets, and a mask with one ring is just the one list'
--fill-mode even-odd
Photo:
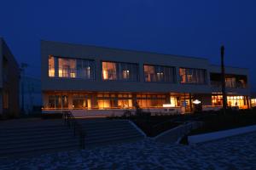
{"label": "dark unlit building cut off by the left edge", "polygon": [[0,114],[18,116],[19,77],[19,65],[0,37]]}

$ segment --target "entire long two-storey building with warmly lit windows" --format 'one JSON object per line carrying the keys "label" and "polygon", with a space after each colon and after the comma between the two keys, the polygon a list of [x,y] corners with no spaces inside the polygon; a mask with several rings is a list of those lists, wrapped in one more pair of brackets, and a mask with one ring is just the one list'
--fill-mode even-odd
{"label": "entire long two-storey building with warmly lit windows", "polygon": [[[204,110],[222,105],[220,66],[207,59],[49,41],[41,42],[41,54],[44,112],[113,113],[136,103],[152,112],[189,112],[199,103]],[[225,71],[228,105],[250,107],[248,70]]]}

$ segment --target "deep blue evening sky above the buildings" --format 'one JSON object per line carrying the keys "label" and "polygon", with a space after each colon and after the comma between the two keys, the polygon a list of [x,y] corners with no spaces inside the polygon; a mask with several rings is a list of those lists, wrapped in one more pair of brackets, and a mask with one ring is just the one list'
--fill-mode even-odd
{"label": "deep blue evening sky above the buildings", "polygon": [[254,0],[0,0],[0,36],[40,77],[40,39],[181,54],[250,69],[256,91]]}

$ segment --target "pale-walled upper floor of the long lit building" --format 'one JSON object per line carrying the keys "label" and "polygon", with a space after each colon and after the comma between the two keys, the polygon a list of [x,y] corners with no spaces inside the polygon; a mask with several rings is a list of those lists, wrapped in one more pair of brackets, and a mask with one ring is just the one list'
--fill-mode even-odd
{"label": "pale-walled upper floor of the long lit building", "polygon": [[[41,53],[46,91],[211,93],[221,82],[219,66],[195,57],[47,41]],[[227,88],[248,89],[247,69],[238,70],[226,68]]]}

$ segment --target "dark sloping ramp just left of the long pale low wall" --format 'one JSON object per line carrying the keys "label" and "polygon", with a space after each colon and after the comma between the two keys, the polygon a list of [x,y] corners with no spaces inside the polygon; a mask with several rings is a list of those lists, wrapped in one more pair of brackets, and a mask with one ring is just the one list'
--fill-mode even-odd
{"label": "dark sloping ramp just left of the long pale low wall", "polygon": [[203,122],[188,122],[167,130],[164,133],[160,133],[154,137],[154,140],[163,143],[177,143],[178,140],[183,138],[184,135],[188,134],[195,128],[201,127],[202,124]]}

